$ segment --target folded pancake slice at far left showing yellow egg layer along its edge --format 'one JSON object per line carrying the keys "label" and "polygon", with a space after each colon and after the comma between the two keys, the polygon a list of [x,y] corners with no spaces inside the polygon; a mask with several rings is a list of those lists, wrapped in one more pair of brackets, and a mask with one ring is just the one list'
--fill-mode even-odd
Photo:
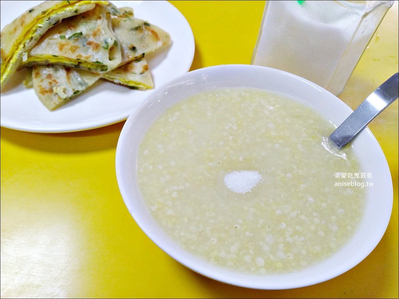
{"label": "folded pancake slice at far left showing yellow egg layer along its edge", "polygon": [[0,87],[4,87],[28,51],[49,28],[64,18],[93,9],[95,4],[111,7],[108,1],[102,0],[45,1],[5,26],[0,36]]}

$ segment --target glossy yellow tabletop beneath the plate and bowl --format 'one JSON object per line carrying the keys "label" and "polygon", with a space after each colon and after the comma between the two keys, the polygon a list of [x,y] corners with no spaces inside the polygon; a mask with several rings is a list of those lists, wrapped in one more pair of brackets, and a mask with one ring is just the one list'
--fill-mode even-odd
{"label": "glossy yellow tabletop beneath the plate and bowl", "polygon": [[[192,26],[192,69],[250,63],[265,1],[171,1]],[[398,2],[340,98],[352,109],[398,71]],[[119,193],[115,149],[123,122],[68,134],[1,128],[2,298],[398,298],[398,101],[369,128],[393,180],[391,221],[352,270],[301,289],[234,287],[194,273],[136,225]]]}

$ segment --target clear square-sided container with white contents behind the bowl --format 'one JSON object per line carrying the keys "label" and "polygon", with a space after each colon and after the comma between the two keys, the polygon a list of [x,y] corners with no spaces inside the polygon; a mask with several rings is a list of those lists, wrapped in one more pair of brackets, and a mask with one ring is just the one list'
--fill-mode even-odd
{"label": "clear square-sided container with white contents behind the bowl", "polygon": [[266,1],[252,64],[344,89],[393,1]]}

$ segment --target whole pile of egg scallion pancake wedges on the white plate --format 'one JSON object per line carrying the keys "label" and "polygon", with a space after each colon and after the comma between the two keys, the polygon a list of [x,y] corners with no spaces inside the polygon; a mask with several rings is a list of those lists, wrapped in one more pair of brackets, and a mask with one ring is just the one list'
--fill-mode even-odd
{"label": "whole pile of egg scallion pancake wedges on the white plate", "polygon": [[109,1],[45,1],[1,31],[1,88],[18,69],[24,84],[54,110],[103,79],[152,89],[145,55],[172,43],[170,35]]}

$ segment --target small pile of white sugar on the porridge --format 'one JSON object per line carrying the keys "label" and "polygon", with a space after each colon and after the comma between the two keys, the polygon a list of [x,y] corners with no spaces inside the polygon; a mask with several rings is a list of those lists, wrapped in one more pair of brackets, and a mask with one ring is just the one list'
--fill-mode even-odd
{"label": "small pile of white sugar on the porridge", "polygon": [[257,171],[241,170],[233,171],[224,177],[227,188],[235,193],[247,193],[259,183],[262,176]]}

